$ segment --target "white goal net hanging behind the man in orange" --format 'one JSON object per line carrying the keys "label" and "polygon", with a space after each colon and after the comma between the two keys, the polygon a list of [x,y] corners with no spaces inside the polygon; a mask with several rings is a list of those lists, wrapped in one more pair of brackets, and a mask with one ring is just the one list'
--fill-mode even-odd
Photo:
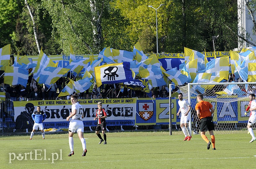
{"label": "white goal net hanging behind the man in orange", "polygon": [[248,107],[249,94],[256,94],[256,82],[188,83],[179,87],[177,93],[182,93],[183,98],[191,104],[190,127],[194,134],[199,133],[200,129],[195,110],[196,96],[199,94],[204,96],[204,101],[212,103],[215,130],[221,131],[220,133],[232,133],[235,130],[247,132],[250,110],[247,111],[247,116],[244,112]]}

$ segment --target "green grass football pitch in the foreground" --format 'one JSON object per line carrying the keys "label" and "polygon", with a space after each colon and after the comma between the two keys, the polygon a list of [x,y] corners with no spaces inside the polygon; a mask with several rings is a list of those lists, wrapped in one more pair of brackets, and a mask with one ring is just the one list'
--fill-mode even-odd
{"label": "green grass football pitch in the foreground", "polygon": [[[255,131],[254,131],[255,132]],[[39,133],[39,132],[37,132]],[[183,141],[182,131],[107,133],[107,143],[98,144],[95,133],[84,133],[86,148],[74,135],[75,154],[70,151],[68,134],[36,134],[0,137],[1,168],[254,168],[256,141],[249,143],[247,131],[233,134],[215,132],[216,151],[207,150],[200,135]],[[209,134],[206,135],[210,138]],[[36,152],[35,152],[36,151]],[[25,159],[25,154],[27,154]],[[35,154],[37,156],[35,157]],[[23,157],[23,158],[22,158]],[[21,159],[22,158],[22,159]]]}

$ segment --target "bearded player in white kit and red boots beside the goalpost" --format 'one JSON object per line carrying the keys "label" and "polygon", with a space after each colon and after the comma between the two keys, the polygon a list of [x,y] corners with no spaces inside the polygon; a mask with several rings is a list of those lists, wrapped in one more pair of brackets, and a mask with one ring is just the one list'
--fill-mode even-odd
{"label": "bearded player in white kit and red boots beside the goalpost", "polygon": [[[179,93],[178,97],[179,97],[178,104],[180,106],[180,109],[177,113],[177,116],[179,116],[180,112],[181,112],[180,128],[181,128],[181,130],[183,131],[183,133],[185,135],[185,139],[183,141],[186,141],[186,140],[189,141],[192,137],[191,136],[191,130],[189,129],[189,125],[188,125],[188,123],[190,121],[190,118],[191,118],[191,115],[190,115],[191,106],[190,106],[190,103],[187,100],[183,99],[183,94],[182,93]],[[187,135],[187,132],[188,132],[188,135]]]}

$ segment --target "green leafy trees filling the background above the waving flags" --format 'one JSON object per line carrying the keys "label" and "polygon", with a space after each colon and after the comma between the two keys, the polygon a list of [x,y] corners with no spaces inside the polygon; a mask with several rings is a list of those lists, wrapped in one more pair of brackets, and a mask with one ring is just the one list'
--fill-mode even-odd
{"label": "green leafy trees filling the background above the waving flags", "polygon": [[[62,2],[64,2],[62,4]],[[91,9],[94,2],[95,11]],[[255,11],[255,0],[250,1]],[[132,51],[139,41],[144,53],[228,51],[237,47],[236,0],[28,0],[39,44],[46,54],[98,54],[104,47]],[[102,4],[104,3],[104,4]],[[0,0],[0,45],[12,53],[37,55],[33,24],[24,0]],[[89,49],[91,47],[92,51]]]}

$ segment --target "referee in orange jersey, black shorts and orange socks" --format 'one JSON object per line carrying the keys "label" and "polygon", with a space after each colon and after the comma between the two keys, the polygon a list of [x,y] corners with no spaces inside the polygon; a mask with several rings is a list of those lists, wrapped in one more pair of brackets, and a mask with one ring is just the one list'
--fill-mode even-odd
{"label": "referee in orange jersey, black shorts and orange socks", "polygon": [[214,124],[212,121],[212,114],[214,113],[214,109],[213,109],[211,103],[203,101],[203,95],[201,95],[201,94],[197,95],[196,99],[197,99],[198,103],[196,103],[195,108],[196,108],[196,114],[201,122],[201,124],[200,124],[201,137],[207,143],[207,150],[209,150],[211,142],[205,136],[205,131],[209,130],[209,133],[210,133],[211,139],[212,139],[212,150],[216,150],[215,149],[215,137],[213,134]]}

